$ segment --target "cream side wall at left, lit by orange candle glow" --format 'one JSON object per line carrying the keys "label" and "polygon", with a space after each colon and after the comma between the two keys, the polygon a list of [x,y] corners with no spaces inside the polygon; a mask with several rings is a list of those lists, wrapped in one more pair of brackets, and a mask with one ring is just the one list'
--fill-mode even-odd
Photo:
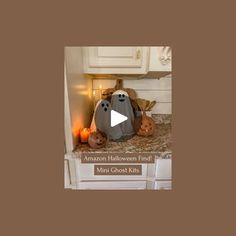
{"label": "cream side wall at left, lit by orange candle glow", "polygon": [[[65,91],[67,152],[72,151],[72,147],[76,145],[78,130],[90,126],[92,116],[92,80],[83,75],[82,59],[81,47],[65,47],[65,89],[68,90]],[[72,134],[72,140],[69,140],[69,134]]]}

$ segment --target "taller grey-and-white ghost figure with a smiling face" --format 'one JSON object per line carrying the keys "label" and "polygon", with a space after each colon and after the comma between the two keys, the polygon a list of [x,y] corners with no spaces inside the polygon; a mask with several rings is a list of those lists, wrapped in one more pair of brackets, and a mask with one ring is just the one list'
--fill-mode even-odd
{"label": "taller grey-and-white ghost figure with a smiling face", "polygon": [[128,93],[123,90],[115,91],[111,97],[111,106],[113,110],[128,117],[126,121],[117,125],[121,128],[123,137],[132,136],[135,133],[134,127],[133,127],[134,112],[133,112],[133,108],[132,108]]}

